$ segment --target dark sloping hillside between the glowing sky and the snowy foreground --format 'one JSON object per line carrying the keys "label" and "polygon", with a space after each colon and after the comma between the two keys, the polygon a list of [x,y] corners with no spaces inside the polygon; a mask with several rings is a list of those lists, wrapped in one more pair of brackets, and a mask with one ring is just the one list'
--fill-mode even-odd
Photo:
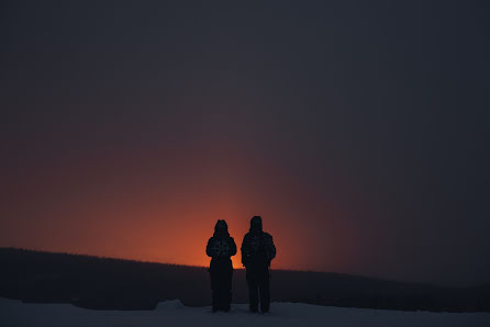
{"label": "dark sloping hillside between the glowing sky and the snowy foreground", "polygon": [[[207,268],[0,248],[0,297],[94,309],[210,305]],[[442,287],[328,272],[271,271],[272,301],[403,311],[490,312],[490,285]],[[233,302],[247,303],[244,270]]]}

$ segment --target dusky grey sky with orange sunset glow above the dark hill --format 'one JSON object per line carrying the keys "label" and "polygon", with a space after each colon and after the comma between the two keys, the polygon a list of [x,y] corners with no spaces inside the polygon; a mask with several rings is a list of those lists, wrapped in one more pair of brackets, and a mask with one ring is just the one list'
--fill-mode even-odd
{"label": "dusky grey sky with orange sunset glow above the dark hill", "polygon": [[487,9],[3,1],[0,246],[488,283]]}

